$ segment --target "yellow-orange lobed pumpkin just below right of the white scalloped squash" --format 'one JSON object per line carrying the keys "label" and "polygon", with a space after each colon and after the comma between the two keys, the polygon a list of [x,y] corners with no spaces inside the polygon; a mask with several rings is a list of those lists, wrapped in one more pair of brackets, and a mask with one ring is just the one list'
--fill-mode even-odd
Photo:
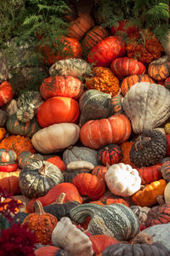
{"label": "yellow-orange lobed pumpkin just below right of the white scalloped squash", "polygon": [[156,197],[164,194],[166,184],[164,179],[146,184],[131,196],[131,201],[139,207],[151,207],[156,204]]}

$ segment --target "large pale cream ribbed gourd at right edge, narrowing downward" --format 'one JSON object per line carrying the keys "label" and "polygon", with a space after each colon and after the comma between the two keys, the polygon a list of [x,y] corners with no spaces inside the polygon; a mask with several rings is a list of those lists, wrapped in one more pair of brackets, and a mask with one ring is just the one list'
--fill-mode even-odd
{"label": "large pale cream ribbed gourd at right edge, narrowing downward", "polygon": [[[123,98],[122,107],[134,133],[161,126],[170,116],[170,92],[160,84],[134,84]],[[136,104],[138,102],[138,105]]]}

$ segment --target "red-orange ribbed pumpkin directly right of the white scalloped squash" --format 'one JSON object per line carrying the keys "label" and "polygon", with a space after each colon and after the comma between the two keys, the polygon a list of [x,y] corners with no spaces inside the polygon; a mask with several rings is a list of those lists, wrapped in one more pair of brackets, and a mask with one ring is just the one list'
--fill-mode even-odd
{"label": "red-orange ribbed pumpkin directly right of the white scalloped squash", "polygon": [[139,172],[139,177],[141,177],[141,184],[149,184],[160,178],[161,175],[161,164],[156,164],[155,166],[144,166],[144,167],[136,167],[136,170]]}

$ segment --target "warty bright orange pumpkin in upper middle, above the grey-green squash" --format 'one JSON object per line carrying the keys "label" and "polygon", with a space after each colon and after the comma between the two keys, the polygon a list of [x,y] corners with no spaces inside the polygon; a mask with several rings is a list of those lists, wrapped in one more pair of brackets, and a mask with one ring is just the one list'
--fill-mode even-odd
{"label": "warty bright orange pumpkin in upper middle, above the grey-green squash", "polygon": [[89,89],[100,90],[111,96],[116,96],[119,92],[119,79],[108,67],[94,67],[94,76],[88,77],[85,84]]}

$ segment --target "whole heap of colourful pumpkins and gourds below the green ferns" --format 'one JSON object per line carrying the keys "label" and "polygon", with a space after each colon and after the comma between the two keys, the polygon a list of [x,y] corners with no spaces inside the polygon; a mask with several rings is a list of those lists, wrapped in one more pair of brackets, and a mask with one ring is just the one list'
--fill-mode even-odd
{"label": "whole heap of colourful pumpkins and gourds below the green ferns", "polygon": [[127,20],[71,19],[39,91],[0,84],[0,186],[27,199],[37,256],[170,255],[168,55]]}

